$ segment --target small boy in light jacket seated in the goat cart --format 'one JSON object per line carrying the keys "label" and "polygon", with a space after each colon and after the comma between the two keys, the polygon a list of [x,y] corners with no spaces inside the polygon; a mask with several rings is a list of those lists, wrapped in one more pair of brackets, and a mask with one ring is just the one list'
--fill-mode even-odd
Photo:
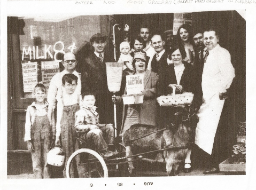
{"label": "small boy in light jacket seated in the goat cart", "polygon": [[108,145],[114,143],[114,127],[112,124],[99,124],[99,114],[94,106],[95,101],[93,93],[82,94],[81,109],[75,114],[75,130],[80,133],[80,138],[86,139],[91,147],[96,146],[104,157],[110,157],[118,154],[118,152],[108,150]]}

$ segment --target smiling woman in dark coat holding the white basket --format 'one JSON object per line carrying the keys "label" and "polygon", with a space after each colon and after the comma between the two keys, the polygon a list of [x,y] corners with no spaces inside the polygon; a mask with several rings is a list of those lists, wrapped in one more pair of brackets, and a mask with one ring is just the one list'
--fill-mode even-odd
{"label": "smiling woman in dark coat holding the white basket", "polygon": [[[175,93],[192,92],[195,93],[195,72],[193,66],[183,61],[184,53],[181,53],[179,49],[175,50],[169,57],[172,58],[171,64],[168,69],[159,73],[159,81],[157,84],[157,97],[167,96],[173,92]],[[160,107],[159,108],[159,124],[161,127],[169,125],[172,121],[172,115],[175,110],[172,107]],[[184,172],[191,171],[191,149],[188,149],[187,156],[185,159],[185,165],[183,168]]]}

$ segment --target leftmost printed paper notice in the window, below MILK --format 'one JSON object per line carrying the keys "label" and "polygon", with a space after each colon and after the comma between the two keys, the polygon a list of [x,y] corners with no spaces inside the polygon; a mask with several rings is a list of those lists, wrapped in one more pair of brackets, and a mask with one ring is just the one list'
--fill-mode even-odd
{"label": "leftmost printed paper notice in the window, below MILK", "polygon": [[21,65],[24,92],[34,92],[37,84],[37,62],[28,62]]}

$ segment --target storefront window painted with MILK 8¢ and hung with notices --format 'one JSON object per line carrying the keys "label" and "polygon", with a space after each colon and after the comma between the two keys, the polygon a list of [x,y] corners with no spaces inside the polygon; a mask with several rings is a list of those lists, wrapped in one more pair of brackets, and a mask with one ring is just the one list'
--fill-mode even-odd
{"label": "storefront window painted with MILK 8\u00a2 and hung with notices", "polygon": [[100,32],[99,15],[19,19],[24,21],[20,35],[24,98],[33,97],[36,83],[49,88],[52,76],[61,70],[61,54],[76,54]]}

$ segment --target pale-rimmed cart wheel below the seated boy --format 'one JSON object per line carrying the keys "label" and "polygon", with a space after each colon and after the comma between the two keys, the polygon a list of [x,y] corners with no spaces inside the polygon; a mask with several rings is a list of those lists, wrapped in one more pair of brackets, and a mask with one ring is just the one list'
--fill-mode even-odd
{"label": "pale-rimmed cart wheel below the seated boy", "polygon": [[[76,169],[73,168],[77,168],[78,175],[75,175]],[[97,152],[88,148],[81,148],[69,157],[66,175],[67,178],[107,178],[107,165],[103,157]]]}

